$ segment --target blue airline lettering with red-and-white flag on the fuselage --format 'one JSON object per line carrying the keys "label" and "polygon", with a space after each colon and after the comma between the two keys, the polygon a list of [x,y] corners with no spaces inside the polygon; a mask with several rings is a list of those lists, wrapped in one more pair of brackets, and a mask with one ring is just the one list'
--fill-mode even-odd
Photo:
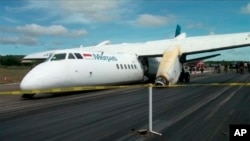
{"label": "blue airline lettering with red-and-white flag on the fuselage", "polygon": [[105,56],[100,54],[91,54],[91,53],[83,53],[84,59],[95,59],[95,60],[103,60],[103,61],[118,61],[115,56]]}

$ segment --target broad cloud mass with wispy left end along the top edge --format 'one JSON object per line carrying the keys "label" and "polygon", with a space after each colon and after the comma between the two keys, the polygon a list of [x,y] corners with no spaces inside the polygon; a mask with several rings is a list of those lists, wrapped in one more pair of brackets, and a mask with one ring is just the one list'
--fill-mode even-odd
{"label": "broad cloud mass with wispy left end along the top edge", "polygon": [[[132,2],[122,0],[26,0],[18,7],[6,7],[5,10],[15,15],[27,13],[30,20],[46,21],[56,24],[92,24],[95,22],[115,22],[131,12]],[[6,19],[8,20],[8,19]]]}

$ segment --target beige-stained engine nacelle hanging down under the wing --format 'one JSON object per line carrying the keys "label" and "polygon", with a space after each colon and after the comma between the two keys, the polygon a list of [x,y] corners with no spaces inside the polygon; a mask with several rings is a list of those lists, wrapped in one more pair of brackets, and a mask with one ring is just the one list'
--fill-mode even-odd
{"label": "beige-stained engine nacelle hanging down under the wing", "polygon": [[164,86],[177,83],[182,70],[179,56],[179,47],[164,52],[156,75],[156,85]]}

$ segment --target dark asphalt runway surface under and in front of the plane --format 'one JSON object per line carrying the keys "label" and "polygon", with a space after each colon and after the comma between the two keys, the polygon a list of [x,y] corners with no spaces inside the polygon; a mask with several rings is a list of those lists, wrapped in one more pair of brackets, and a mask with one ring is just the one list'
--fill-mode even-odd
{"label": "dark asphalt runway surface under and in front of the plane", "polygon": [[[78,94],[0,96],[0,140],[228,141],[230,124],[250,124],[249,86],[192,84],[250,82],[250,74],[199,74],[190,86],[153,89],[153,129],[148,128],[148,89]],[[131,129],[136,129],[132,132]]]}

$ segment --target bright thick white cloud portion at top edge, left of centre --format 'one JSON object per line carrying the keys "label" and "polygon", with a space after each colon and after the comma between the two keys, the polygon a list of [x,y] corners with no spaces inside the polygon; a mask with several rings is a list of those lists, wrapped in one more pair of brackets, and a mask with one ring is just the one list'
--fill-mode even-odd
{"label": "bright thick white cloud portion at top edge, left of centre", "polygon": [[[81,22],[109,22],[120,17],[122,7],[125,3],[117,0],[88,0],[88,1],[58,1],[63,11],[66,11],[67,18],[79,17],[73,21]],[[70,21],[69,21],[70,22]]]}

